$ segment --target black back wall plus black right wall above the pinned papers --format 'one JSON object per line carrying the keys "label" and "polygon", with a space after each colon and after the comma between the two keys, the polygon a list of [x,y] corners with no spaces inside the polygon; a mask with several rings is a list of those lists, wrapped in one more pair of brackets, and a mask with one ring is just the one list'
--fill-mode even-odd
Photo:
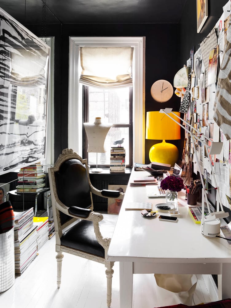
{"label": "black back wall plus black right wall above the pinned papers", "polygon": [[[197,34],[196,1],[187,0],[179,24],[55,24],[48,25],[48,36],[55,36],[55,160],[67,144],[68,128],[68,68],[69,36],[145,36],[145,111],[157,111],[172,107],[178,111],[180,99],[173,94],[167,103],[152,99],[150,89],[158,79],[167,79],[173,84],[174,75],[186,64],[193,46],[199,43],[221,17],[227,0],[208,0],[209,17],[201,32]],[[177,8],[176,8],[177,9]],[[174,12],[173,12],[174,14]],[[25,25],[37,36],[41,36],[41,25]],[[76,119],[78,120],[78,119]],[[184,131],[182,135],[184,136]],[[149,163],[148,152],[152,144],[145,140],[145,163]],[[182,141],[171,141],[182,153]]]}

